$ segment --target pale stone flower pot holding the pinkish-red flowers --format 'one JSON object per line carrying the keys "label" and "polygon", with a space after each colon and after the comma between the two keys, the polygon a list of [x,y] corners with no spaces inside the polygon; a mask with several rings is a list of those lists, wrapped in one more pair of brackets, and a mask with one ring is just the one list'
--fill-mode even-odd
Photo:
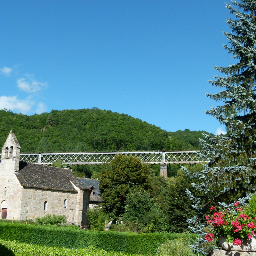
{"label": "pale stone flower pot holding the pinkish-red flowers", "polygon": [[220,236],[219,243],[225,251],[237,251],[237,252],[256,252],[256,235],[252,236],[252,239],[242,240],[242,244],[235,245],[233,243],[226,242],[227,237]]}

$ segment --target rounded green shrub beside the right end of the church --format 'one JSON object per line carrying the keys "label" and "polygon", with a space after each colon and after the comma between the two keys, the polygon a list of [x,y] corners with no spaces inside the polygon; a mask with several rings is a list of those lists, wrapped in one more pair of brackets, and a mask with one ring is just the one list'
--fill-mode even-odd
{"label": "rounded green shrub beside the right end of the church", "polygon": [[87,218],[89,221],[90,229],[96,231],[103,231],[106,226],[107,216],[102,212],[100,207],[87,208]]}

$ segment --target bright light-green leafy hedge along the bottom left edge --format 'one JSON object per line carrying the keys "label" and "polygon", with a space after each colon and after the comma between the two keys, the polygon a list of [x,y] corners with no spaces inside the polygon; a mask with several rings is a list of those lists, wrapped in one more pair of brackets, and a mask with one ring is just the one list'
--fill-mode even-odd
{"label": "bright light-green leafy hedge along the bottom left edge", "polygon": [[[22,244],[16,241],[5,241],[0,239],[0,255],[4,256],[132,256],[117,252],[106,252],[101,249],[89,248],[68,249],[35,244]],[[133,255],[133,256],[139,256]]]}

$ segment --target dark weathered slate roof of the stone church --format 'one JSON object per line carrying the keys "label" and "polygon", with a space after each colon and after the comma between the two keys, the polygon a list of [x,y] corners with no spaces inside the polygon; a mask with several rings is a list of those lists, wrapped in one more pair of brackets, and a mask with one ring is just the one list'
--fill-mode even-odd
{"label": "dark weathered slate roof of the stone church", "polygon": [[72,182],[80,189],[89,189],[69,169],[20,161],[19,173],[15,174],[24,187],[76,192]]}

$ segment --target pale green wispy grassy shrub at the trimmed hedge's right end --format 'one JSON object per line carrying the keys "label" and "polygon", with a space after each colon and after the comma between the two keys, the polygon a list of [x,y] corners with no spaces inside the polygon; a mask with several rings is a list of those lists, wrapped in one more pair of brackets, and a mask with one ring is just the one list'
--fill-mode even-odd
{"label": "pale green wispy grassy shrub at the trimmed hedge's right end", "polygon": [[195,256],[192,249],[188,246],[193,243],[189,237],[179,237],[175,240],[167,240],[157,249],[157,255],[161,256]]}

